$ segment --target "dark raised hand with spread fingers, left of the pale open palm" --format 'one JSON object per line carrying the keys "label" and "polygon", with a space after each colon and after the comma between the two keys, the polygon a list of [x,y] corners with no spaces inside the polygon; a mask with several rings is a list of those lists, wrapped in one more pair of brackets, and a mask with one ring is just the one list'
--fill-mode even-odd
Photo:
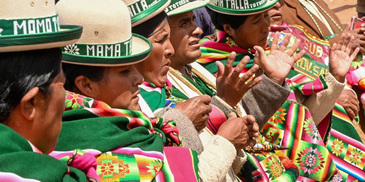
{"label": "dark raised hand with spread fingers, left of the pale open palm", "polygon": [[223,66],[223,63],[219,61],[215,62],[218,67],[216,79],[217,96],[231,107],[236,106],[243,95],[262,80],[261,77],[257,77],[251,82],[245,83],[251,78],[255,71],[258,70],[258,65],[254,64],[250,70],[240,78],[239,74],[241,74],[243,68],[245,68],[246,64],[249,62],[250,57],[245,56],[234,68],[234,71],[232,71],[235,58],[236,53],[231,52],[227,59],[226,66]]}

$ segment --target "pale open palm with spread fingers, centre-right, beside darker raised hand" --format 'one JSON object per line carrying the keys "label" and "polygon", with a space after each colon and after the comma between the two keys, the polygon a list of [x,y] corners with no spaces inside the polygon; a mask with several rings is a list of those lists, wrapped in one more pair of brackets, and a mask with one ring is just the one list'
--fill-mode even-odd
{"label": "pale open palm with spread fingers, centre-right, beside darker raised hand", "polygon": [[264,69],[266,76],[273,82],[282,85],[285,78],[289,74],[293,64],[304,55],[305,51],[301,50],[298,54],[291,56],[296,52],[300,40],[297,39],[295,44],[285,53],[285,50],[289,44],[291,34],[288,33],[285,36],[280,48],[277,48],[279,40],[279,32],[275,32],[274,39],[271,43],[270,54],[266,55],[264,49],[260,46],[255,46],[254,49],[258,52],[258,59],[260,60],[260,66]]}

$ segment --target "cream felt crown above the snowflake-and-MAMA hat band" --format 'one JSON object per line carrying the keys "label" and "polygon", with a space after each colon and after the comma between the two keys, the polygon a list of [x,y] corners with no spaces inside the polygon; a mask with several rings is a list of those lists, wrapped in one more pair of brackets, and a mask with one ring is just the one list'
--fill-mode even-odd
{"label": "cream felt crown above the snowflake-and-MAMA hat band", "polygon": [[131,19],[121,0],[61,0],[56,5],[61,25],[82,25],[78,44],[117,44],[131,39]]}

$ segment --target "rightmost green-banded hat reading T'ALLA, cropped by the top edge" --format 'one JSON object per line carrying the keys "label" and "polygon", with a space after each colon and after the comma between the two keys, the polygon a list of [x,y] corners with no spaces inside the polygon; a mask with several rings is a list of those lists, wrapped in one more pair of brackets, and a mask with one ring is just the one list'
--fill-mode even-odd
{"label": "rightmost green-banded hat reading T'ALLA, cropped by the top edge", "polygon": [[253,15],[273,7],[278,0],[207,0],[208,8],[228,15]]}

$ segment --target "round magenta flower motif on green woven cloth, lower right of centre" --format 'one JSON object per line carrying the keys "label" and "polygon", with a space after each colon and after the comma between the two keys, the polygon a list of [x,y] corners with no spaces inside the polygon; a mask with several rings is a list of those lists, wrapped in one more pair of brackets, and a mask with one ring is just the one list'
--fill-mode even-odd
{"label": "round magenta flower motif on green woven cloth, lower right of centre", "polygon": [[312,149],[312,147],[310,147],[309,149],[306,148],[302,150],[298,154],[296,162],[304,173],[316,173],[323,168],[324,158],[322,158],[322,156],[323,155],[321,155],[321,152],[318,151],[318,149]]}

